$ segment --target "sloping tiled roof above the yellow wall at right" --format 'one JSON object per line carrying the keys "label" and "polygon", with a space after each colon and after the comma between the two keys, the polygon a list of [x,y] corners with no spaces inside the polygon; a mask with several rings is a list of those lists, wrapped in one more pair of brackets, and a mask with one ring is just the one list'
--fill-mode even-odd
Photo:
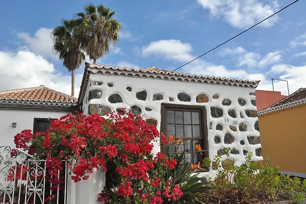
{"label": "sloping tiled roof above the yellow wall at right", "polygon": [[306,104],[306,88],[300,88],[299,90],[287,96],[283,100],[280,100],[277,103],[269,106],[268,108],[259,111],[258,114],[263,115],[266,113],[271,113],[274,111],[299,106],[302,104]]}

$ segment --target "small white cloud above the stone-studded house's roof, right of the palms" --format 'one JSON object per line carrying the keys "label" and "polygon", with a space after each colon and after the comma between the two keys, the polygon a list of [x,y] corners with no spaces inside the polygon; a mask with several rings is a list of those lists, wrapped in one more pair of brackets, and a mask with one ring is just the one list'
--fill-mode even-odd
{"label": "small white cloud above the stone-studded house's roof, right of the palms", "polygon": [[190,44],[174,39],[153,41],[141,48],[141,53],[145,57],[154,55],[179,62],[191,60],[193,58],[189,54],[191,51]]}

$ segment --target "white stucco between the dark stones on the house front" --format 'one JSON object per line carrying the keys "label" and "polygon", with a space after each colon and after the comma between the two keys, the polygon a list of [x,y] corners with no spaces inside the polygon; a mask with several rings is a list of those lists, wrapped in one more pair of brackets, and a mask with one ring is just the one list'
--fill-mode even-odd
{"label": "white stucco between the dark stones on the house front", "polygon": [[[93,85],[91,82],[103,82],[102,85]],[[108,82],[113,83],[113,87],[107,85]],[[132,91],[126,90],[126,87],[131,87]],[[94,98],[88,101],[88,96],[90,90],[98,89],[103,92],[101,98]],[[146,100],[138,100],[136,98],[136,92],[145,90],[147,92]],[[191,96],[191,101],[184,102],[177,98],[178,93],[187,93]],[[249,93],[254,92],[254,88],[250,87],[237,87],[229,85],[211,85],[203,84],[197,82],[182,82],[182,81],[171,81],[171,80],[159,80],[159,79],[149,79],[149,78],[139,78],[139,77],[126,77],[120,75],[107,75],[100,73],[91,73],[89,77],[89,83],[86,90],[86,94],[83,101],[83,112],[88,114],[88,107],[90,104],[100,104],[111,108],[115,111],[117,108],[126,107],[130,108],[133,105],[137,105],[141,108],[142,114],[145,118],[154,118],[158,121],[157,128],[160,130],[161,127],[161,104],[182,104],[182,105],[196,105],[203,106],[207,111],[207,128],[208,128],[208,142],[209,142],[209,157],[213,159],[217,155],[217,150],[223,147],[231,147],[239,150],[239,155],[231,154],[231,158],[235,159],[236,165],[241,165],[244,163],[243,150],[253,152],[253,160],[262,160],[262,157],[258,157],[255,154],[255,149],[260,148],[261,144],[249,144],[247,136],[259,136],[259,132],[254,129],[254,122],[258,120],[257,117],[247,117],[245,110],[254,110],[256,107],[250,103],[251,99],[255,96]],[[117,93],[122,97],[123,103],[112,104],[108,101],[108,97],[111,94]],[[152,96],[155,93],[163,94],[162,100],[152,101]],[[205,93],[209,97],[207,103],[196,103],[196,96],[200,93]],[[214,99],[212,96],[218,94],[219,98]],[[174,100],[169,101],[169,97]],[[230,106],[223,106],[223,99],[230,99],[232,104]],[[238,104],[238,98],[243,98],[246,100],[246,105],[240,106]],[[210,107],[215,106],[223,109],[223,116],[219,118],[214,118],[211,116]],[[152,109],[152,111],[145,111],[145,107]],[[236,111],[237,117],[232,118],[227,114],[229,109],[234,109]],[[240,112],[244,118],[240,117]],[[229,122],[225,123],[224,119],[228,118]],[[240,132],[238,124],[234,124],[234,121],[245,123],[247,125],[246,132]],[[212,128],[210,129],[210,123],[212,123]],[[216,124],[222,124],[223,130],[216,130]],[[237,128],[237,132],[230,130],[230,125]],[[225,133],[231,133],[235,137],[235,141],[232,144],[224,144],[223,137]],[[221,143],[215,144],[214,137],[218,135],[221,138]],[[240,144],[240,140],[244,140],[244,145]],[[154,151],[160,151],[160,146],[156,143]],[[225,159],[225,155],[222,156]],[[213,172],[211,172],[213,173]]]}

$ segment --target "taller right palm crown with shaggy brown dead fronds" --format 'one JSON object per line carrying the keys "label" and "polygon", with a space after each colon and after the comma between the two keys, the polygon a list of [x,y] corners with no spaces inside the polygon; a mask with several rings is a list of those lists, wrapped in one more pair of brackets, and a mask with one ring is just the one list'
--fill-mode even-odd
{"label": "taller right palm crown with shaggy brown dead fronds", "polygon": [[83,21],[81,46],[95,64],[98,58],[109,51],[111,44],[118,42],[121,25],[112,18],[115,12],[103,5],[95,7],[89,4],[85,7],[85,13],[77,15]]}

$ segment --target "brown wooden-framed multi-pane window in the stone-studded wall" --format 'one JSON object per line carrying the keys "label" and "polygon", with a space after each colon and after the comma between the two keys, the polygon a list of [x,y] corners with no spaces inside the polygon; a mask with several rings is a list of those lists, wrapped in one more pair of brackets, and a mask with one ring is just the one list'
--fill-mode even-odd
{"label": "brown wooden-framed multi-pane window in the stone-studded wall", "polygon": [[[208,157],[208,151],[195,155],[196,144],[208,150],[205,107],[162,104],[162,132],[168,138],[172,135],[184,140],[176,152],[180,154],[185,150],[186,163],[201,163],[204,157]],[[169,144],[168,148],[174,147]]]}

